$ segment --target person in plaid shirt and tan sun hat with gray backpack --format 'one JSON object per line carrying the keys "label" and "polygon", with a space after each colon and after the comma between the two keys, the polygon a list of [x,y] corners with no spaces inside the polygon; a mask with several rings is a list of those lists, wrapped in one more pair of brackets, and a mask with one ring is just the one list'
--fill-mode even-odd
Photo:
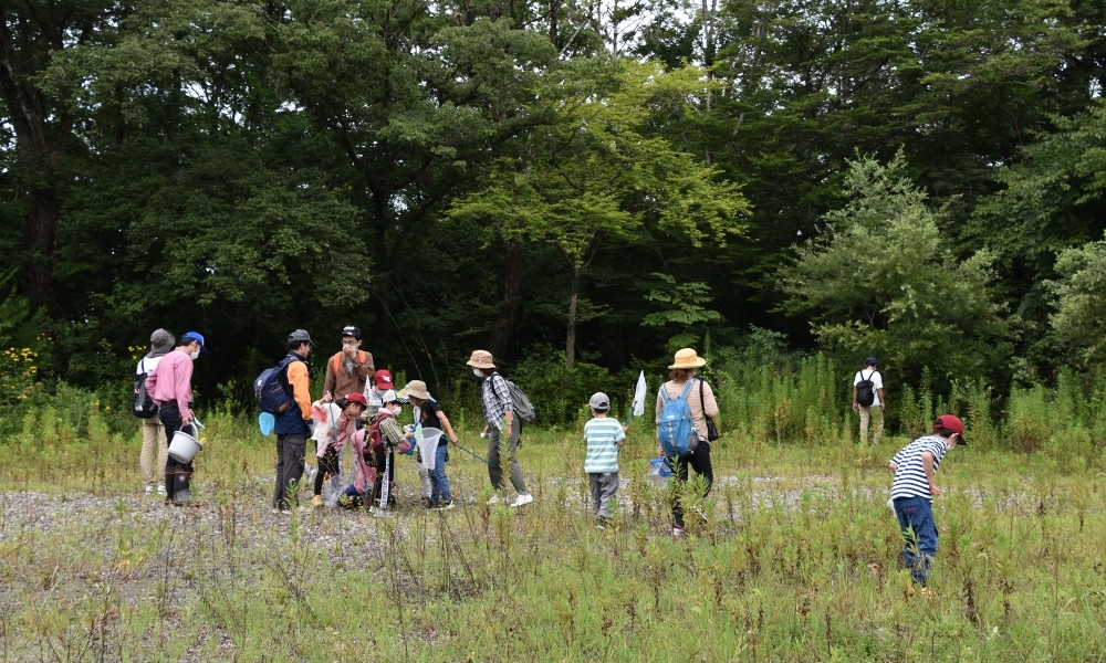
{"label": "person in plaid shirt and tan sun hat with gray backpack", "polygon": [[[486,422],[483,434],[488,435],[488,478],[500,493],[505,490],[503,469],[500,466],[500,454],[505,436],[511,485],[519,493],[511,506],[530,504],[534,497],[526,490],[526,482],[522,478],[522,467],[519,465],[518,459],[522,420],[514,415],[514,401],[511,400],[511,390],[507,386],[507,379],[499,375],[491,352],[487,350],[473,350],[466,364],[472,368],[472,373],[480,379],[480,401],[483,404]],[[499,501],[500,497],[497,494],[492,495],[488,503],[495,504]]]}

